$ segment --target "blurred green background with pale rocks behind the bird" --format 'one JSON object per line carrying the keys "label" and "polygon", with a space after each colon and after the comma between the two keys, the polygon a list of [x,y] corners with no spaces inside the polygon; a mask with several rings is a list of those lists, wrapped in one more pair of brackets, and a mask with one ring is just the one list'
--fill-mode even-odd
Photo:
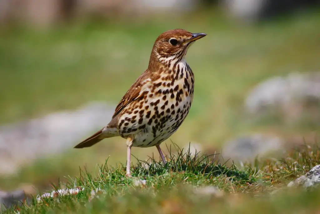
{"label": "blurred green background with pale rocks behind the bird", "polygon": [[[174,142],[245,162],[316,143],[319,3],[0,0],[0,189],[46,190],[79,167],[125,164],[120,137],[72,148],[109,122],[157,36],[173,28],[208,36],[188,51],[194,101],[164,153]],[[160,159],[155,148],[132,154]]]}

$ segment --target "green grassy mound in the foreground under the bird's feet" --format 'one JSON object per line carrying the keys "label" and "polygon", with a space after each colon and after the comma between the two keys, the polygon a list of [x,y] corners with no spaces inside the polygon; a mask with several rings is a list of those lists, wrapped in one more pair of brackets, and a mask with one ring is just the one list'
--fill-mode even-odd
{"label": "green grassy mound in the foreground under the bird's feet", "polygon": [[320,208],[317,187],[308,192],[284,187],[319,163],[316,145],[260,168],[226,167],[179,148],[170,154],[166,165],[138,161],[134,178],[125,176],[125,167],[109,168],[107,162],[95,176],[81,170],[80,177],[53,185],[55,190],[78,188],[77,194],[38,196],[4,213],[314,213]]}

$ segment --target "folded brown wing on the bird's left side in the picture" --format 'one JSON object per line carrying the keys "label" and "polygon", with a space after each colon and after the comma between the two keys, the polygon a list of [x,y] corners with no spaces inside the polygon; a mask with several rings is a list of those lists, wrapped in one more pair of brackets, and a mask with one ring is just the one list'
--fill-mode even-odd
{"label": "folded brown wing on the bird's left side in the picture", "polygon": [[127,93],[122,97],[121,101],[118,103],[115,113],[112,118],[115,118],[129,103],[138,99],[140,96],[141,88],[148,84],[148,73],[147,71],[142,73],[140,77],[132,84]]}

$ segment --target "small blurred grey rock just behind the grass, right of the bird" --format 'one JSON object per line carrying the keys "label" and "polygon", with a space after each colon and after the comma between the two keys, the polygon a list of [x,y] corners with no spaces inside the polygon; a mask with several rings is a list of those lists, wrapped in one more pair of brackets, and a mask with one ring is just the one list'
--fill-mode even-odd
{"label": "small blurred grey rock just behind the grass, right of the bird", "polygon": [[242,136],[223,144],[221,150],[224,160],[253,161],[257,156],[265,156],[271,152],[282,150],[283,142],[275,136],[254,134]]}

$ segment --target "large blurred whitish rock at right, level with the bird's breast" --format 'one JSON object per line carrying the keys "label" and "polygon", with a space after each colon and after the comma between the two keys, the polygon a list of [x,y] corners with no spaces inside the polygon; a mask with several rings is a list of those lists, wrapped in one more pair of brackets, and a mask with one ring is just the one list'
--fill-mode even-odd
{"label": "large blurred whitish rock at right, level with the bird's breast", "polygon": [[245,108],[250,113],[275,107],[285,111],[292,104],[315,101],[320,101],[320,73],[290,73],[259,83],[247,96]]}

